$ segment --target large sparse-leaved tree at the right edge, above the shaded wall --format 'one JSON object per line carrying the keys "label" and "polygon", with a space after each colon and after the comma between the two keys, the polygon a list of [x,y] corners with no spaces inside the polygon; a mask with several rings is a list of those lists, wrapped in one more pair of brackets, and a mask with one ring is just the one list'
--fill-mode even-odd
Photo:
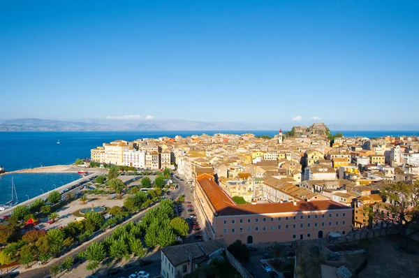
{"label": "large sparse-leaved tree at the right edge, above the shaded wall", "polygon": [[[397,182],[385,185],[380,195],[387,202],[372,205],[369,213],[374,222],[383,221],[397,228],[404,238],[406,249],[409,238],[419,233],[419,181],[413,184]],[[413,231],[409,233],[409,229]]]}

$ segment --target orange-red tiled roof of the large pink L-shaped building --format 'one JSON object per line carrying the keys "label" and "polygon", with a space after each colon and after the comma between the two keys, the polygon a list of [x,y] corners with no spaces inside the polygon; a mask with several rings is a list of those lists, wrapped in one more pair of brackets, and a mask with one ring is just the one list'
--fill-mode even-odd
{"label": "orange-red tiled roof of the large pink L-shaped building", "polygon": [[294,203],[263,203],[237,205],[214,180],[198,177],[198,183],[210,199],[219,215],[270,214],[281,212],[306,212],[316,210],[351,210],[351,207],[332,200],[313,200],[311,202]]}

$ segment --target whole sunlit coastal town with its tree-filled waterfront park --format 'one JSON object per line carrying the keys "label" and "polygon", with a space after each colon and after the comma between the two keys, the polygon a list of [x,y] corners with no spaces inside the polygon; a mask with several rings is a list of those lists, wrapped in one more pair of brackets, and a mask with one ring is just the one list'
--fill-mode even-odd
{"label": "whole sunlit coastal town with its tree-filled waterfront park", "polygon": [[417,246],[418,163],[416,136],[345,138],[323,123],[272,138],[104,142],[89,159],[60,166],[85,177],[1,212],[1,270],[368,277],[374,242],[397,246],[400,262]]}

